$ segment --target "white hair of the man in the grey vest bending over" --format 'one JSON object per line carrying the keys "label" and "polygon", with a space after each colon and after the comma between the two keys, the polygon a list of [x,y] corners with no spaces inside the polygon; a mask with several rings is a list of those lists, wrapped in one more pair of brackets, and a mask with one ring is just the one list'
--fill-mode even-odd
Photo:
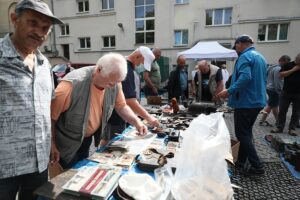
{"label": "white hair of the man in the grey vest bending over", "polygon": [[101,74],[105,77],[117,73],[124,80],[127,75],[126,59],[118,53],[105,54],[97,61],[97,67],[101,69]]}

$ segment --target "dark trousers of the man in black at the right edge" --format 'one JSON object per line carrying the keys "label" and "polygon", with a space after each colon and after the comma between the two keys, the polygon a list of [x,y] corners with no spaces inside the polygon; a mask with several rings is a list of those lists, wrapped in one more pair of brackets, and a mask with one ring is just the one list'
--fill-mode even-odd
{"label": "dark trousers of the man in black at the right edge", "polygon": [[284,91],[280,94],[279,99],[279,113],[278,113],[278,124],[277,128],[284,128],[286,121],[286,113],[288,112],[289,106],[292,103],[292,116],[289,123],[289,130],[295,130],[299,123],[300,115],[300,94],[288,94]]}

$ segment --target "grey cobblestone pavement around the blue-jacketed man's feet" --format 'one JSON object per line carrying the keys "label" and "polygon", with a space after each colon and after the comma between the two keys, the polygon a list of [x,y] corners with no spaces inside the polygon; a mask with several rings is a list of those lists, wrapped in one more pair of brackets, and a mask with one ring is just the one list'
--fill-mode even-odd
{"label": "grey cobblestone pavement around the blue-jacketed man's feet", "polygon": [[[261,200],[261,199],[300,199],[300,180],[292,176],[291,172],[283,164],[279,158],[279,154],[271,147],[264,139],[266,135],[279,136],[284,141],[300,143],[300,136],[289,136],[287,134],[288,123],[290,120],[291,110],[287,114],[285,130],[281,134],[270,133],[272,128],[275,128],[275,119],[273,115],[269,115],[267,121],[273,125],[261,126],[259,120],[261,114],[253,127],[254,144],[259,157],[265,163],[266,173],[263,176],[245,177],[238,171],[233,170],[231,177],[232,182],[242,189],[234,189],[234,198],[238,200]],[[225,113],[224,119],[228,130],[233,138],[234,123],[233,113]],[[300,133],[300,129],[296,129]]]}

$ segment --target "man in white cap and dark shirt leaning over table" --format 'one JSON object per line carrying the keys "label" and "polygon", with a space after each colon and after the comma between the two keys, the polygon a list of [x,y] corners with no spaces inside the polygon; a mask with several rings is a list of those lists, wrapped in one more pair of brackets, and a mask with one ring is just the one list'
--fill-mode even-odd
{"label": "man in white cap and dark shirt leaning over table", "polygon": [[[145,119],[149,125],[153,127],[159,126],[159,121],[152,115],[150,115],[137,101],[136,99],[136,85],[134,82],[134,70],[144,65],[144,68],[150,69],[151,63],[155,57],[152,51],[145,46],[137,48],[133,53],[127,56],[127,76],[122,82],[122,88],[125,95],[126,103],[138,116]],[[120,116],[114,111],[112,117],[106,127],[106,132],[110,133],[107,137],[103,137],[101,145],[105,145],[109,139],[111,139],[115,133],[121,133],[126,128],[126,122],[120,118]]]}

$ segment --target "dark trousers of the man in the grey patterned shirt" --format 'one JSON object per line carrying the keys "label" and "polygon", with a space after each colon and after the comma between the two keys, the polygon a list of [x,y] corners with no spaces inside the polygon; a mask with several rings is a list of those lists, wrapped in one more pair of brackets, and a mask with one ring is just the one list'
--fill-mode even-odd
{"label": "dark trousers of the man in the grey patterned shirt", "polygon": [[19,192],[19,200],[34,200],[34,190],[48,181],[48,169],[42,173],[31,173],[20,176],[0,179],[0,199],[16,200]]}

